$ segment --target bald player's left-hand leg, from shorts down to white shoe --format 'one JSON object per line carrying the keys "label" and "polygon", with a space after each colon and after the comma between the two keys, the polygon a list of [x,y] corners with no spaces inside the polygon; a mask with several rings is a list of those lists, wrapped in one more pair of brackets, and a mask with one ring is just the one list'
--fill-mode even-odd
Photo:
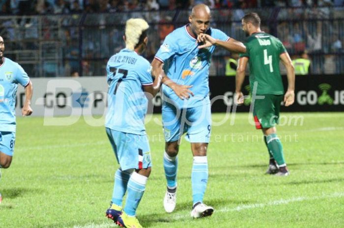
{"label": "bald player's left-hand leg, from shorts down to white shoe", "polygon": [[165,211],[171,213],[176,205],[177,170],[178,170],[178,141],[180,132],[180,112],[169,103],[164,103],[162,120],[165,136],[164,171],[167,181],[167,190],[164,197]]}

